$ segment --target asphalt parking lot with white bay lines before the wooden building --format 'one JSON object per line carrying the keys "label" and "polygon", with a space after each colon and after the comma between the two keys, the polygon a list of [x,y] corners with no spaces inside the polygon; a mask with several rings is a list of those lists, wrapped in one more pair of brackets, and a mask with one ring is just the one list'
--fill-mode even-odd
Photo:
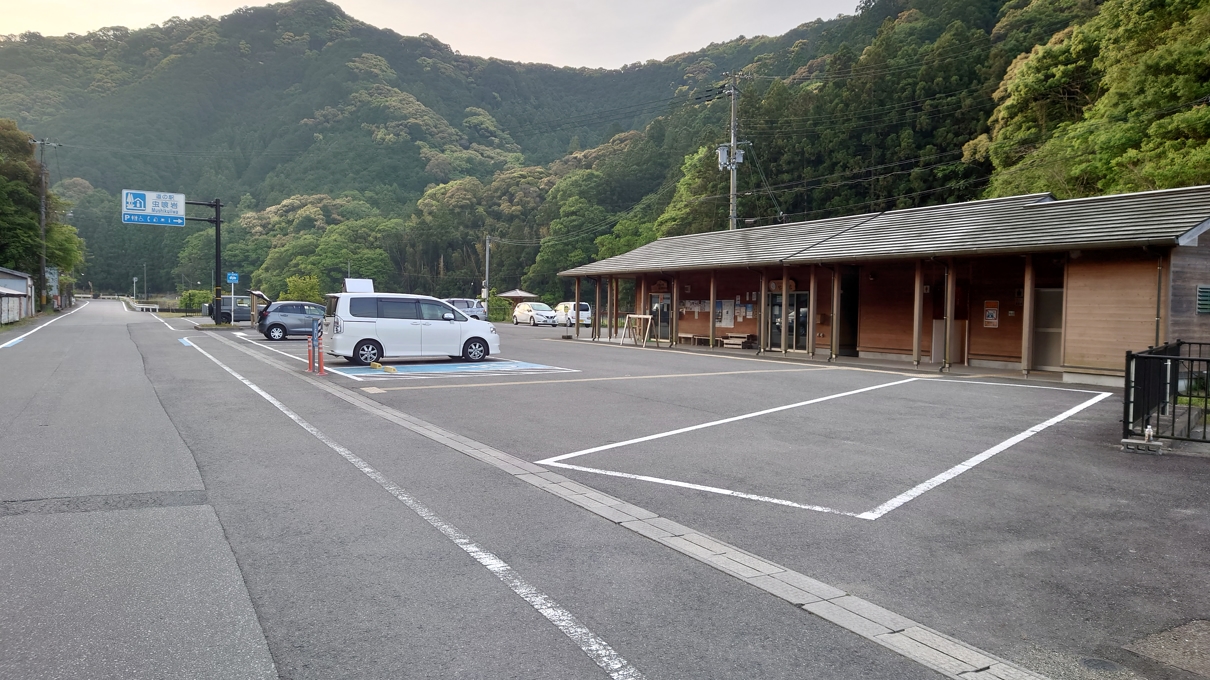
{"label": "asphalt parking lot with white bay lines before the wooden building", "polygon": [[1210,617],[1210,459],[1122,453],[1116,391],[497,327],[499,369],[328,380],[1035,672],[1195,678],[1123,646]]}

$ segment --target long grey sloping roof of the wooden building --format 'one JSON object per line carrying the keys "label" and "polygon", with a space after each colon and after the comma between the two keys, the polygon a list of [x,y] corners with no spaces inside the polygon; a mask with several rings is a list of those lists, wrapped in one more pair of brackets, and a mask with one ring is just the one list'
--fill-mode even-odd
{"label": "long grey sloping roof of the wooden building", "polygon": [[1176,246],[1210,227],[1210,186],[1056,201],[1031,194],[672,236],[561,276]]}

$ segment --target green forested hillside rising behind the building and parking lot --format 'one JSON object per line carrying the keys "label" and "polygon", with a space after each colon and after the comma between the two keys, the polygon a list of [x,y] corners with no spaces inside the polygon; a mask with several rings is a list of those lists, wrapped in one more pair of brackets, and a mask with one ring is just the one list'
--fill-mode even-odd
{"label": "green forested hillside rising behind the building and parking lot", "polygon": [[0,42],[0,117],[48,157],[85,280],[203,287],[213,231],[117,223],[123,188],[227,203],[225,269],[566,294],[555,273],[726,229],[714,148],[738,71],[743,225],[1022,191],[1210,181],[1210,0],[872,0],[852,17],[617,70],[517,64],[318,0]]}

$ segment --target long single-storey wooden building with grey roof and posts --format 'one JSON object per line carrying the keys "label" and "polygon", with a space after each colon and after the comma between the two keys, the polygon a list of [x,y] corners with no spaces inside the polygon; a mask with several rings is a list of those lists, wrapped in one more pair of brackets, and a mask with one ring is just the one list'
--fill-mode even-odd
{"label": "long single-storey wooden building with grey roof and posts", "polygon": [[1210,186],[1033,194],[667,237],[560,276],[615,302],[634,280],[670,341],[1119,385],[1128,350],[1210,340],[1206,230]]}

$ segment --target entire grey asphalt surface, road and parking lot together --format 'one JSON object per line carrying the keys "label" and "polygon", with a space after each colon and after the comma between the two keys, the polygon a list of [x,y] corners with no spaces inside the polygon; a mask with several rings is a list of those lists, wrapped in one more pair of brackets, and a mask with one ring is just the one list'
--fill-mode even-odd
{"label": "entire grey asphalt surface, road and parking lot together", "polygon": [[[110,301],[0,350],[0,678],[943,676],[917,629],[1191,678],[1120,646],[1210,613],[1210,465],[1116,451],[1114,398],[869,520],[1090,393],[501,333],[576,373],[305,380],[298,342]],[[531,469],[737,417],[547,465],[555,490]],[[887,628],[830,604],[864,601]]]}

